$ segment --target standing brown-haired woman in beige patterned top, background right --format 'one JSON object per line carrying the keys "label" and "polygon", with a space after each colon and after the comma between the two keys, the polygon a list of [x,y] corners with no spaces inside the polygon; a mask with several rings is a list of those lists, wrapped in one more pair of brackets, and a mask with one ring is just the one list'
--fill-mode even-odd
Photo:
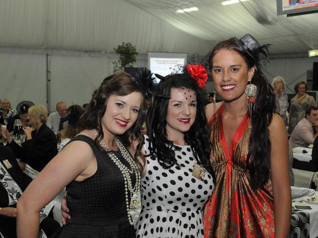
{"label": "standing brown-haired woman in beige patterned top, background right", "polygon": [[316,106],[316,102],[313,96],[309,96],[307,91],[307,85],[305,82],[300,81],[295,84],[295,92],[297,93],[295,97],[291,100],[291,105],[289,109],[289,127],[288,134],[292,134],[297,123],[305,118],[305,111],[310,106]]}

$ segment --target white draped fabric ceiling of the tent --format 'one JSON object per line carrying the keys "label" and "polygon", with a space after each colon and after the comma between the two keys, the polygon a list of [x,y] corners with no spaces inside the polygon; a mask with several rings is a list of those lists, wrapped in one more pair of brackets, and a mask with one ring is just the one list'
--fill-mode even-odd
{"label": "white draped fabric ceiling of the tent", "polygon": [[[114,51],[121,42],[147,51],[206,54],[246,33],[271,54],[318,46],[318,14],[276,16],[276,0],[0,0],[0,46]],[[183,14],[176,10],[198,7]]]}

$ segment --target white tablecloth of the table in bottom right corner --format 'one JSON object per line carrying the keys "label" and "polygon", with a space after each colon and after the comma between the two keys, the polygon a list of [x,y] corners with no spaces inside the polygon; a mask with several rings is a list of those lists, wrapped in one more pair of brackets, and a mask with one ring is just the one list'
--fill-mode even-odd
{"label": "white tablecloth of the table in bottom right corner", "polygon": [[[318,192],[315,191],[315,195],[318,197]],[[316,202],[308,202],[307,201],[307,195],[295,198],[293,201],[301,200],[304,203],[307,203],[312,209],[311,210],[302,210],[309,213],[309,220],[310,220],[310,238],[316,238],[318,237],[318,201]],[[301,210],[301,209],[300,209]]]}

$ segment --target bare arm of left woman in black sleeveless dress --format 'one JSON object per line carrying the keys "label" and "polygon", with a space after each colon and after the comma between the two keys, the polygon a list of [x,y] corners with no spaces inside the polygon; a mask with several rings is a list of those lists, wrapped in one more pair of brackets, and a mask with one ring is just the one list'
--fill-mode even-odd
{"label": "bare arm of left woman in black sleeveless dress", "polygon": [[39,213],[72,180],[84,180],[97,169],[90,146],[71,142],[56,155],[26,188],[17,205],[19,238],[37,238]]}

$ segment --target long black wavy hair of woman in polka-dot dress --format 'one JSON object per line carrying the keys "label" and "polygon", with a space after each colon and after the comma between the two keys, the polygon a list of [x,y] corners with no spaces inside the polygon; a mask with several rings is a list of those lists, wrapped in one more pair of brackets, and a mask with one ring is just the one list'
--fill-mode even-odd
{"label": "long black wavy hair of woman in polka-dot dress", "polygon": [[183,74],[166,76],[157,86],[153,103],[147,111],[146,126],[150,147],[150,154],[147,156],[157,157],[159,164],[164,169],[177,164],[174,151],[180,151],[181,148],[173,145],[173,142],[167,139],[166,117],[168,102],[172,88],[188,88],[196,93],[197,114],[194,124],[184,134],[184,141],[191,146],[194,158],[214,176],[209,166],[211,144],[204,112],[204,99],[200,94],[197,83],[188,75],[185,69],[184,71]]}

